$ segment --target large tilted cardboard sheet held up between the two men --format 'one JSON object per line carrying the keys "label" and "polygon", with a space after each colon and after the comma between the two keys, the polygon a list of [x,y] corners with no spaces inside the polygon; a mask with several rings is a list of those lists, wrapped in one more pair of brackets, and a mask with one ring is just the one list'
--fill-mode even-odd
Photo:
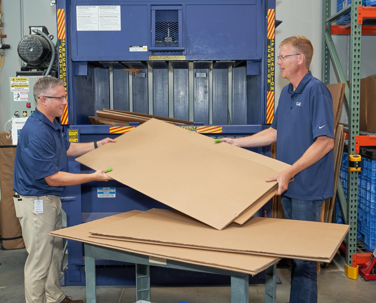
{"label": "large tilted cardboard sheet held up between the two men", "polygon": [[76,161],[112,167],[109,177],[218,230],[276,186],[267,178],[290,167],[156,119],[116,140]]}

